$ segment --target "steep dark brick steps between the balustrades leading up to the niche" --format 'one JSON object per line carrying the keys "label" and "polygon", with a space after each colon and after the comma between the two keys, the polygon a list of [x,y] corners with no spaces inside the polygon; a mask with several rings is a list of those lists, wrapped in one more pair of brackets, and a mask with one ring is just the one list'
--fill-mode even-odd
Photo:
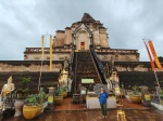
{"label": "steep dark brick steps between the balustrades leading up to the niche", "polygon": [[[82,79],[93,79],[95,84],[101,83],[96,64],[89,51],[76,53],[76,89],[78,89]],[[83,85],[87,89],[89,88],[89,84]]]}

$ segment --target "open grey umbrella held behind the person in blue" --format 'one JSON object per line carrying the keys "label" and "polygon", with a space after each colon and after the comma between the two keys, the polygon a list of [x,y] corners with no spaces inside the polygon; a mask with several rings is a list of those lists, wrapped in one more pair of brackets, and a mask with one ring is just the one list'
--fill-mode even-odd
{"label": "open grey umbrella held behind the person in blue", "polygon": [[108,86],[102,84],[102,83],[97,83],[96,85],[93,85],[93,92],[99,95],[99,93],[101,92],[100,89],[101,86],[103,86],[104,89],[104,92],[109,94],[109,90],[108,90]]}

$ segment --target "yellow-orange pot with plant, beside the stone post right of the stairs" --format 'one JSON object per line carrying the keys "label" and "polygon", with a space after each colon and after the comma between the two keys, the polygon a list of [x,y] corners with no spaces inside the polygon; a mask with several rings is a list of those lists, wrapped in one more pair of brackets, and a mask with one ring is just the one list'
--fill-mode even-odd
{"label": "yellow-orange pot with plant, beside the stone post right of the stairs", "polygon": [[131,103],[140,104],[141,103],[141,95],[139,93],[140,88],[134,86],[133,90],[134,93],[129,95],[129,99],[131,100]]}

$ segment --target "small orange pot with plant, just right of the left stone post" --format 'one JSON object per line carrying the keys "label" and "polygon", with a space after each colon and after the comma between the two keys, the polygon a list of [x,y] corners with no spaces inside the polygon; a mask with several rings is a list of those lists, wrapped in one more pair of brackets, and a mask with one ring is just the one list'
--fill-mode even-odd
{"label": "small orange pot with plant, just right of the left stone post", "polygon": [[57,89],[54,91],[54,104],[55,105],[62,105],[62,102],[63,102],[62,90],[61,89]]}

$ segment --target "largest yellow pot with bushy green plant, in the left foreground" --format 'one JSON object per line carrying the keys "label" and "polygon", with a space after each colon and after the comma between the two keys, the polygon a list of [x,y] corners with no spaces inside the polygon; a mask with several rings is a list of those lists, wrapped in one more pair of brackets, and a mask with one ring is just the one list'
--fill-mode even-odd
{"label": "largest yellow pot with bushy green plant, in the left foreground", "polygon": [[46,97],[45,92],[28,95],[25,99],[25,105],[23,106],[23,116],[26,119],[38,117],[42,112]]}

